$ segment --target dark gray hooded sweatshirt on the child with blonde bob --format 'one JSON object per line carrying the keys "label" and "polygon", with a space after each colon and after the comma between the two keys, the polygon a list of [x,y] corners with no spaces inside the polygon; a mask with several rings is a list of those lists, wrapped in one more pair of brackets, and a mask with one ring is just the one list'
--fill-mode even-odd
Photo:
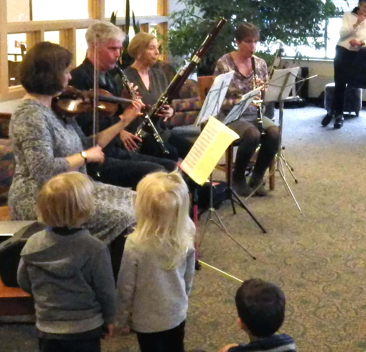
{"label": "dark gray hooded sweatshirt on the child with blonde bob", "polygon": [[21,252],[18,283],[34,297],[42,332],[86,332],[115,319],[111,257],[87,230],[61,236],[48,228],[32,235]]}

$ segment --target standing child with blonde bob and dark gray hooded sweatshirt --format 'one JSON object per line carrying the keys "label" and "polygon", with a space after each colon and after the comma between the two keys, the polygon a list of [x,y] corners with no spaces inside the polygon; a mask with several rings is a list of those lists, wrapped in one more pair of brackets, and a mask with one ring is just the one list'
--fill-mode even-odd
{"label": "standing child with blonde bob and dark gray hooded sweatshirt", "polygon": [[41,352],[100,352],[113,333],[116,290],[106,245],[81,228],[94,214],[94,187],[79,172],[59,174],[38,193],[48,227],[21,252],[18,283],[33,295]]}

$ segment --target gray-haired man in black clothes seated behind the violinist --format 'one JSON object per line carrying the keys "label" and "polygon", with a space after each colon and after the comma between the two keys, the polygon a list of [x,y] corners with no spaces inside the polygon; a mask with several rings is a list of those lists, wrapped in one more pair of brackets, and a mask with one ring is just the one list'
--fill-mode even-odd
{"label": "gray-haired man in black clothes seated behind the violinist", "polygon": [[[86,58],[81,65],[71,71],[70,84],[80,90],[90,90],[94,85],[94,67],[99,71],[99,88],[114,96],[121,96],[122,88],[110,72],[116,65],[123,50],[122,43],[126,35],[110,22],[98,21],[86,31],[88,45]],[[118,107],[112,117],[99,121],[99,130],[104,130],[119,120],[123,108]],[[89,136],[93,133],[93,116],[82,113],[77,118],[78,124]],[[88,174],[98,181],[112,185],[135,188],[139,180],[154,171],[173,171],[176,163],[172,160],[139,154],[136,149],[139,137],[123,130],[107,147],[103,149],[105,161],[102,165],[87,164]]]}

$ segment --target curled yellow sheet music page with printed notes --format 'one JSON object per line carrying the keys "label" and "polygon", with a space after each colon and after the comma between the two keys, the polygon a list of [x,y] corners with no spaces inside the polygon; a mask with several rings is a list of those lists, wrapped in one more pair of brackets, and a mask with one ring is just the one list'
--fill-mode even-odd
{"label": "curled yellow sheet music page with printed notes", "polygon": [[228,146],[239,135],[210,116],[180,168],[199,185],[203,185]]}

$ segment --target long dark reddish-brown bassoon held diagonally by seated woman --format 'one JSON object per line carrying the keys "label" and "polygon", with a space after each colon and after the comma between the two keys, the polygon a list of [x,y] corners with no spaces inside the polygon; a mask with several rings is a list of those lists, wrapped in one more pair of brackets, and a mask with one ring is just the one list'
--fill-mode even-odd
{"label": "long dark reddish-brown bassoon held diagonally by seated woman", "polygon": [[[173,94],[178,91],[188,78],[188,76],[191,74],[193,69],[197,66],[197,64],[201,61],[201,58],[203,57],[203,54],[206,52],[208,47],[213,42],[214,38],[216,38],[217,34],[219,34],[220,29],[225,24],[226,19],[223,17],[220,17],[212,29],[210,30],[209,34],[206,36],[205,40],[202,42],[201,46],[197,49],[197,51],[193,54],[191,57],[191,60],[181,67],[176,75],[173,77],[172,81],[169,83],[169,86],[167,89],[160,95],[157,102],[152,106],[151,110],[147,114],[149,118],[152,118],[156,116],[156,114],[159,112],[159,110],[164,105],[169,105],[169,102],[172,99]],[[142,122],[142,124],[139,126],[140,129],[145,128],[146,121]]]}

